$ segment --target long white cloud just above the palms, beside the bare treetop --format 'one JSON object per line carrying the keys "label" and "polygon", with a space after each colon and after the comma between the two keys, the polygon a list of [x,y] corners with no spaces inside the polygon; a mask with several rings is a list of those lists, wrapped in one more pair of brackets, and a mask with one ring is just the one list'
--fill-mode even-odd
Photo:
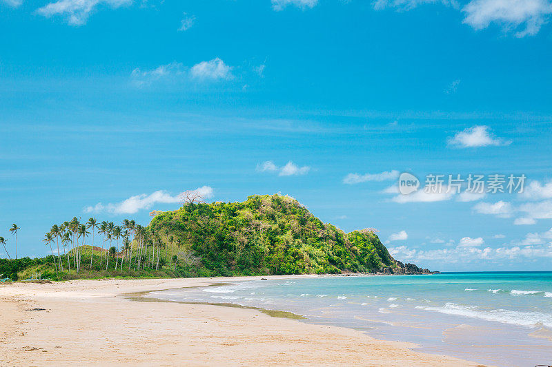
{"label": "long white cloud just above the palms, beside the bare treetop", "polygon": [[[209,186],[198,187],[193,190],[199,193],[203,198],[213,197],[213,188]],[[182,202],[182,194],[171,196],[169,193],[163,190],[155,191],[149,195],[141,193],[139,195],[130,196],[130,198],[117,203],[109,203],[103,205],[101,202],[97,205],[84,208],[85,213],[99,213],[101,211],[107,211],[112,214],[133,214],[143,209],[150,209],[153,205],[160,204],[174,204]]]}

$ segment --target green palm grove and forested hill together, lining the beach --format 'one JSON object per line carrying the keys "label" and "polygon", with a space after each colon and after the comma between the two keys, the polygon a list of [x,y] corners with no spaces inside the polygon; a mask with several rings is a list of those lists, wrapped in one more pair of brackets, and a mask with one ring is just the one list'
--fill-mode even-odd
{"label": "green palm grove and forested hill together, lining the beach", "polygon": [[[344,233],[322,223],[288,196],[254,195],[231,203],[196,201],[189,200],[175,211],[153,211],[148,227],[133,220],[118,226],[95,218],[54,224],[43,239],[50,255],[0,260],[0,274],[12,280],[37,275],[68,280],[394,273],[403,268],[373,229]],[[3,239],[0,242],[5,244]]]}

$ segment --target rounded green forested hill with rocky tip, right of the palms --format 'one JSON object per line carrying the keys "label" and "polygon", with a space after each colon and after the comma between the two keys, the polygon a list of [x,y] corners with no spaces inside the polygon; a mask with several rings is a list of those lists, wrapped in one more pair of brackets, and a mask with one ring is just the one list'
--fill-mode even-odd
{"label": "rounded green forested hill with rocky tip, right of the palms", "polygon": [[210,275],[407,272],[373,231],[345,233],[288,196],[188,204],[159,213],[148,229],[173,236]]}

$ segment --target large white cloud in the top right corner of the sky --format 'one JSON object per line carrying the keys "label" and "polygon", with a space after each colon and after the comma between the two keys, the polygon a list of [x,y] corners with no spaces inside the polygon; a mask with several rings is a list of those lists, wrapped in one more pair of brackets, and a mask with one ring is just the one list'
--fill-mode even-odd
{"label": "large white cloud in the top right corner of the sky", "polygon": [[552,3],[549,0],[472,0],[462,12],[466,14],[463,22],[475,30],[495,23],[523,37],[537,34],[552,14]]}

